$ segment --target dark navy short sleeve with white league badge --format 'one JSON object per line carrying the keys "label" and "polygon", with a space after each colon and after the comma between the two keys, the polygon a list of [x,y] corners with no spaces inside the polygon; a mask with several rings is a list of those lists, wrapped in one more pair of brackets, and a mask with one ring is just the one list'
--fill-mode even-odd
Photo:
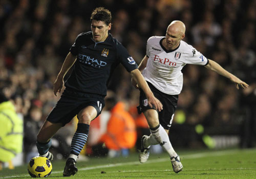
{"label": "dark navy short sleeve with white league badge", "polygon": [[117,58],[120,60],[127,72],[131,72],[138,69],[137,63],[134,61],[133,57],[127,52],[127,50],[122,46],[121,43],[117,43]]}

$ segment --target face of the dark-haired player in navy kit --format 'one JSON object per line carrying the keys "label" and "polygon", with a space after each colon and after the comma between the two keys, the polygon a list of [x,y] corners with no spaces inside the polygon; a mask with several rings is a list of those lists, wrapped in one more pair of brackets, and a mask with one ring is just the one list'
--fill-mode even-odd
{"label": "face of the dark-haired player in navy kit", "polygon": [[92,20],[91,29],[93,32],[93,39],[96,42],[104,41],[108,37],[108,31],[111,29],[111,23],[106,25],[101,20]]}

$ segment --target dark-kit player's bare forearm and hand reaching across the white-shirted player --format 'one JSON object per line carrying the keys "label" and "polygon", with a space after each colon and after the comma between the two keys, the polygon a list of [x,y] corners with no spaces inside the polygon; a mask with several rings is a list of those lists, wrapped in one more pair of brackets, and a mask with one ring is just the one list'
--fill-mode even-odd
{"label": "dark-kit player's bare forearm and hand reaching across the white-shirted player", "polygon": [[161,111],[163,109],[162,103],[154,96],[150,87],[148,86],[146,80],[142,76],[141,72],[138,69],[135,69],[130,72],[133,80],[137,82],[139,87],[143,90],[147,97],[148,104],[152,107],[154,105],[156,110]]}

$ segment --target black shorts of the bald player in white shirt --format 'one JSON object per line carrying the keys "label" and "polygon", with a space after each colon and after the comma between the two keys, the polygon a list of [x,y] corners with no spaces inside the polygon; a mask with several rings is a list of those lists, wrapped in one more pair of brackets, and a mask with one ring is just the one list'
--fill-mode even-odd
{"label": "black shorts of the bald player in white shirt", "polygon": [[[155,95],[155,97],[163,104],[163,110],[158,112],[159,123],[163,126],[164,129],[169,130],[172,125],[174,113],[177,108],[178,103],[178,95],[168,95],[160,92],[153,84],[147,82],[148,86],[150,86],[151,91]],[[138,113],[142,113],[147,109],[155,109],[155,107],[150,107],[147,103],[147,98],[145,93],[140,90],[140,105],[138,108]]]}

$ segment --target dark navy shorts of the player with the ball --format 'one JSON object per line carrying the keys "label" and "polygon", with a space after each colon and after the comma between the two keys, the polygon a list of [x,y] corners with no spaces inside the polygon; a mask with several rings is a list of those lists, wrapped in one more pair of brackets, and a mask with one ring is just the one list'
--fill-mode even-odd
{"label": "dark navy shorts of the player with the ball", "polygon": [[104,96],[65,89],[46,120],[51,123],[62,123],[62,126],[65,126],[87,106],[93,106],[99,116],[104,107]]}

